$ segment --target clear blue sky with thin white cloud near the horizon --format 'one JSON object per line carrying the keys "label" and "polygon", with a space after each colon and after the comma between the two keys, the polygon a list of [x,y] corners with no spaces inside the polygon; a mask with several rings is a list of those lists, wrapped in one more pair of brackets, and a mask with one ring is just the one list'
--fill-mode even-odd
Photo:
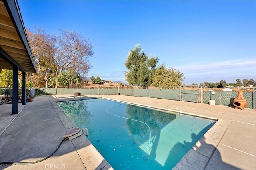
{"label": "clear blue sky with thin white cloud near the horizon", "polygon": [[81,32],[92,43],[88,77],[125,81],[124,62],[140,44],[184,84],[256,81],[256,1],[18,0],[24,25],[57,35]]}

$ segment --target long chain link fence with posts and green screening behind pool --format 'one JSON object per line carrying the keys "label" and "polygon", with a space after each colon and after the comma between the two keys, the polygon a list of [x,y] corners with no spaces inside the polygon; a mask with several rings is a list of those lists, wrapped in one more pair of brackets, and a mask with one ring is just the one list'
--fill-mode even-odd
{"label": "long chain link fence with posts and green screening behind pool", "polygon": [[[100,86],[100,87],[58,87],[43,88],[42,91],[51,94],[73,94],[81,92],[88,95],[128,95],[138,97],[152,97],[177,101],[209,103],[211,96],[216,105],[234,107],[234,99],[238,91],[243,91],[247,108],[255,108],[254,87],[199,87],[198,85],[182,85],[177,87],[132,87],[132,86]],[[214,92],[211,94],[211,92]]]}

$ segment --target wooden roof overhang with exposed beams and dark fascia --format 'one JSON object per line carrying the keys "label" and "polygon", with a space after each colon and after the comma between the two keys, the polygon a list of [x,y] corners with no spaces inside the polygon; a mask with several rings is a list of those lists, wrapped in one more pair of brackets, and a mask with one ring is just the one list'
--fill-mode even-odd
{"label": "wooden roof overhang with exposed beams and dark fascia", "polygon": [[16,0],[0,0],[0,69],[37,73],[28,37]]}

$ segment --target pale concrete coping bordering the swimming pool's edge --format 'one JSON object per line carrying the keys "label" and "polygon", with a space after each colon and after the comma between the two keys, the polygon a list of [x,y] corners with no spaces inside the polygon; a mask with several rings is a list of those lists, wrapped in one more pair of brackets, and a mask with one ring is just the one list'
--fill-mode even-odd
{"label": "pale concrete coping bordering the swimming pool's edge", "polygon": [[[132,105],[138,105],[141,107],[148,107],[151,109],[158,109],[161,111],[168,111],[168,112],[174,112],[182,115],[188,115],[203,119],[210,119],[216,121],[216,123],[204,134],[198,142],[187,152],[187,154],[172,168],[173,170],[179,170],[179,169],[198,169],[198,167],[204,169],[206,168],[208,162],[210,161],[214,151],[218,147],[222,137],[224,136],[228,126],[231,123],[231,120],[223,120],[218,119],[214,117],[207,117],[204,115],[198,115],[194,113],[188,113],[179,111],[178,109],[166,109],[162,107],[152,107],[149,105],[142,105],[134,102],[127,102],[122,100],[116,100],[116,99],[110,99],[108,97],[80,97],[80,98],[68,98],[68,99],[56,99],[55,101],[52,101],[52,103],[55,103],[57,108],[54,107],[54,109],[58,110],[56,111],[57,114],[60,114],[60,120],[62,122],[65,122],[64,127],[66,130],[70,130],[76,125],[67,117],[67,115],[62,111],[62,109],[57,105],[57,102],[63,102],[63,101],[76,101],[76,100],[84,100],[84,99],[108,99],[111,101],[118,101],[122,103],[128,103]],[[64,115],[63,115],[64,114]],[[67,121],[69,119],[69,121]],[[76,141],[79,139],[79,142]],[[74,146],[81,145],[82,142],[84,142],[85,147],[82,148],[79,147],[78,154],[81,157],[82,162],[86,166],[86,168],[90,167],[92,169],[98,169],[99,167],[104,169],[113,169],[110,164],[104,159],[104,157],[98,152],[98,150],[91,144],[91,142],[86,138],[86,136],[82,135],[82,137],[76,138],[76,140],[72,140]],[[92,154],[94,153],[94,154]],[[90,155],[86,156],[84,158],[84,155]],[[99,168],[99,169],[101,169]]]}

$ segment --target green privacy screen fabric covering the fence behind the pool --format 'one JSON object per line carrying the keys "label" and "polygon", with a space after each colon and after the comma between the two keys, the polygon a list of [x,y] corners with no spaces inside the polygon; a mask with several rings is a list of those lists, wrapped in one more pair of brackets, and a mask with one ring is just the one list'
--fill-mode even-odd
{"label": "green privacy screen fabric covering the fence behind the pool", "polygon": [[[209,100],[210,100],[210,91],[208,91],[209,89],[212,89],[212,88],[203,90],[202,96],[201,96],[200,90],[186,90],[186,89],[183,89],[181,94],[180,94],[180,90],[148,89],[148,88],[145,88],[145,89],[120,88],[119,91],[118,91],[118,88],[109,88],[109,89],[42,88],[40,90],[50,94],[70,94],[70,95],[73,95],[77,91],[79,91],[82,95],[116,95],[116,93],[119,92],[120,95],[152,97],[152,98],[170,99],[170,100],[180,100],[180,96],[182,96],[182,101],[199,102],[202,99],[202,103],[209,103]],[[233,102],[238,94],[237,92],[238,89],[235,89],[235,90],[236,91],[222,91],[222,88],[215,88],[214,89],[215,94],[212,95],[213,100],[215,100],[215,104],[234,107]],[[244,99],[246,99],[248,103],[247,108],[253,108],[253,104],[254,104],[253,94],[254,92],[252,91],[252,89],[243,90]]]}

